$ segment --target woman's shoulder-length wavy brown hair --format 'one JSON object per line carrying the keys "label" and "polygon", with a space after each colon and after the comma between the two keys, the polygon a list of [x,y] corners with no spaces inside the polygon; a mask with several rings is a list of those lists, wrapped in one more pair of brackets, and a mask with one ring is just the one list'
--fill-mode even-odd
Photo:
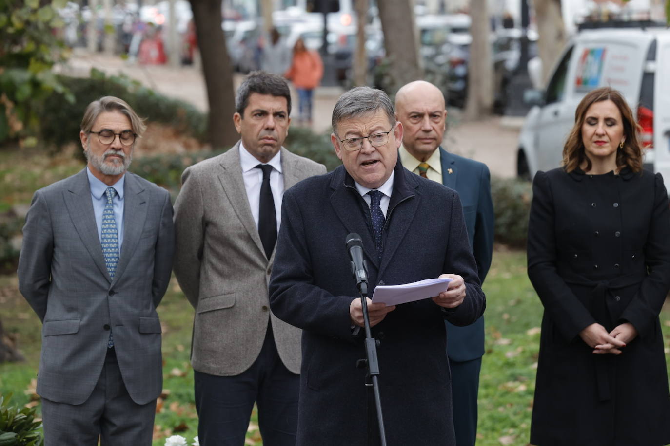
{"label": "woman's shoulder-length wavy brown hair", "polygon": [[563,147],[563,168],[566,172],[572,172],[583,164],[586,164],[586,171],[591,169],[591,160],[586,156],[584,150],[584,141],[582,140],[582,125],[586,119],[586,112],[594,102],[610,100],[614,102],[616,108],[621,113],[621,120],[624,126],[624,146],[616,149],[616,166],[619,169],[628,167],[633,172],[642,171],[642,149],[638,140],[640,126],[637,124],[632,110],[626,104],[623,96],[617,90],[610,87],[601,87],[592,90],[575,111],[575,125],[570,130]]}

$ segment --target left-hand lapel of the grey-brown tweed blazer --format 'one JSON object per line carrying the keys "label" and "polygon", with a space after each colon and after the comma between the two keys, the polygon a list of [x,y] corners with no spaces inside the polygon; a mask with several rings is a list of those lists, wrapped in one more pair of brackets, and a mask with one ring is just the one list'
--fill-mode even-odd
{"label": "left-hand lapel of the grey-brown tweed blazer", "polygon": [[265,258],[265,249],[261,242],[261,236],[258,233],[256,222],[251,214],[251,207],[249,206],[249,198],[247,198],[247,189],[245,188],[245,181],[242,177],[242,168],[240,166],[240,143],[238,142],[228,152],[221,155],[220,166],[218,171],[218,180],[221,183],[223,192],[228,197],[232,210],[235,211],[237,217],[242,222],[242,225],[249,233],[249,237],[253,240],[259,250],[259,254]]}

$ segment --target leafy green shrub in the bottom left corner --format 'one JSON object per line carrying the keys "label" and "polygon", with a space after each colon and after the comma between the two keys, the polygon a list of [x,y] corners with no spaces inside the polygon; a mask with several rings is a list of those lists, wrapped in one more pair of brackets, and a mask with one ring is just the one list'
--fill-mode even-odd
{"label": "leafy green shrub in the bottom left corner", "polygon": [[10,398],[0,396],[0,445],[43,446],[42,423],[35,421],[36,409],[10,406]]}

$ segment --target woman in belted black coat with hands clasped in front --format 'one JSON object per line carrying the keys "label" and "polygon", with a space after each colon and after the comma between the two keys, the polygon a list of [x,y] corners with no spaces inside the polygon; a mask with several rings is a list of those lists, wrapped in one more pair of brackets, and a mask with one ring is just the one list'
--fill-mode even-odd
{"label": "woman in belted black coat with hands clasped in front", "polygon": [[531,443],[670,443],[659,312],[670,288],[670,211],[642,169],[622,96],[584,97],[563,166],[538,172],[528,275],[544,306]]}

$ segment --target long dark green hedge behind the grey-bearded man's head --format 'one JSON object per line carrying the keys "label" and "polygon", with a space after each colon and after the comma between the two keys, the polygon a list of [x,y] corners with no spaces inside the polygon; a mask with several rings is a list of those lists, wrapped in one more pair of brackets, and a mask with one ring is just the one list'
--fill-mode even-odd
{"label": "long dark green hedge behind the grey-bearded man's head", "polygon": [[204,140],[207,119],[204,113],[184,101],[167,98],[143,87],[127,76],[105,76],[92,69],[90,78],[60,76],[59,82],[74,96],[74,102],[52,95],[42,103],[40,135],[53,148],[68,142],[79,142],[79,130],[84,110],[90,102],[103,96],[117,96],[128,102],[133,110],[149,121],[168,124],[186,134]]}

